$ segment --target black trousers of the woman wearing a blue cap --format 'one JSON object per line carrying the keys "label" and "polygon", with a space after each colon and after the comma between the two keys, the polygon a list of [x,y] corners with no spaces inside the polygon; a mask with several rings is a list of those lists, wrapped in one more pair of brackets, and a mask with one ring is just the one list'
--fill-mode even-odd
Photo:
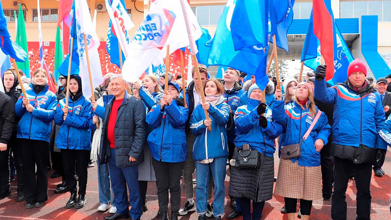
{"label": "black trousers of the woman wearing a blue cap", "polygon": [[177,212],[181,206],[181,171],[185,162],[168,163],[152,159],[152,166],[158,182],[159,211],[167,211],[169,206],[169,190],[171,211]]}

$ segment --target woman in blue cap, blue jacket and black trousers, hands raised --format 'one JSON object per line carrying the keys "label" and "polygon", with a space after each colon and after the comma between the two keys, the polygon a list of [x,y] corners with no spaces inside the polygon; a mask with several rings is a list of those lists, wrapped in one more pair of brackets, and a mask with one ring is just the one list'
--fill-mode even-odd
{"label": "woman in blue cap, blue jacket and black trousers, hands raised", "polygon": [[158,184],[158,218],[167,220],[170,189],[171,219],[176,220],[181,205],[181,171],[187,155],[185,124],[189,110],[184,107],[183,99],[177,99],[177,83],[169,82],[167,92],[146,116],[153,128],[147,141]]}

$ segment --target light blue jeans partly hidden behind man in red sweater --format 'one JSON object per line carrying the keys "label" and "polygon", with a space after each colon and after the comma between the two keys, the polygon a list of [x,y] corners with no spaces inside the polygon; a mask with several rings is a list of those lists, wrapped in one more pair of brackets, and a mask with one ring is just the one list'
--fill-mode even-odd
{"label": "light blue jeans partly hidden behind man in red sweater", "polygon": [[115,196],[113,194],[113,201],[111,201],[111,192],[110,192],[110,178],[109,178],[109,165],[100,164],[100,159],[98,157],[97,167],[98,167],[98,187],[99,187],[99,203],[100,204],[110,204],[115,206]]}

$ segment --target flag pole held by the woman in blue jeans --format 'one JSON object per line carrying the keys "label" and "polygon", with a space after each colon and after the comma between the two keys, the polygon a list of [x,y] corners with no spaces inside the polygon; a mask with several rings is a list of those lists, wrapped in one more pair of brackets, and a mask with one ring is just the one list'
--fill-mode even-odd
{"label": "flag pole held by the woman in blue jeans", "polygon": [[[187,10],[186,10],[186,4],[188,4],[188,3],[187,2],[185,3],[185,0],[179,0],[179,2],[181,3],[183,16],[185,18],[186,31],[187,31],[187,36],[189,38],[190,50],[192,51],[195,72],[197,73],[198,87],[199,87],[200,94],[201,94],[201,100],[202,100],[202,103],[205,104],[205,94],[204,94],[204,91],[202,88],[201,74],[198,69],[198,61],[197,61],[197,56],[196,56],[198,49],[197,49],[197,45],[195,45],[195,40],[193,39],[193,36],[192,36],[192,31],[190,29],[191,24],[189,23],[189,15],[187,14]],[[166,67],[166,69],[167,69],[167,67]],[[204,112],[205,112],[205,119],[210,120],[208,110],[204,110]],[[208,126],[208,130],[211,131],[212,127]]]}

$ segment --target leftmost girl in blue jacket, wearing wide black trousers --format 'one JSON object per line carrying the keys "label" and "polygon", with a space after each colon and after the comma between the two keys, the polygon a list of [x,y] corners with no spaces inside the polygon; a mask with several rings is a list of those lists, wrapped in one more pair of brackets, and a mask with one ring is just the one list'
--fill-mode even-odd
{"label": "leftmost girl in blue jacket, wearing wide black trousers", "polygon": [[[37,69],[32,75],[27,97],[19,97],[15,105],[16,116],[20,117],[16,138],[21,146],[24,173],[23,191],[26,209],[42,207],[48,199],[47,167],[49,139],[52,130],[57,97],[49,91],[46,71]],[[35,165],[37,179],[35,179]]]}

